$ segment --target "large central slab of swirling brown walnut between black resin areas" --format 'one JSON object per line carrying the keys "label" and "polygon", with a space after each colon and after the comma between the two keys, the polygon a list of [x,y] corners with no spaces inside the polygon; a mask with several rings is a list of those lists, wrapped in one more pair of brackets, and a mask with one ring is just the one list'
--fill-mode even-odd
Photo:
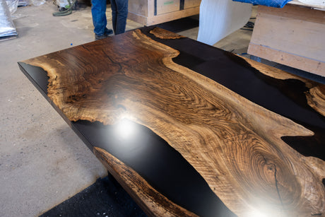
{"label": "large central slab of swirling brown walnut between black resin areas", "polygon": [[[280,139],[314,133],[175,64],[178,54],[135,30],[25,62],[47,71],[48,96],[71,121],[143,124],[181,153],[237,216],[324,216],[325,162]],[[308,93],[323,115],[324,92]],[[100,148],[95,153],[108,164],[117,160]]]}

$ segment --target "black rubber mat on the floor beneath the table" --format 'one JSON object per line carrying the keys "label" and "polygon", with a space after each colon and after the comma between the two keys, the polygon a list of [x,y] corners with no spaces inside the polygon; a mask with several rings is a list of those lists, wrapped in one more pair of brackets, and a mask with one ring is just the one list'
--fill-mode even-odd
{"label": "black rubber mat on the floor beneath the table", "polygon": [[145,217],[146,214],[114,180],[114,177],[108,175],[41,216]]}

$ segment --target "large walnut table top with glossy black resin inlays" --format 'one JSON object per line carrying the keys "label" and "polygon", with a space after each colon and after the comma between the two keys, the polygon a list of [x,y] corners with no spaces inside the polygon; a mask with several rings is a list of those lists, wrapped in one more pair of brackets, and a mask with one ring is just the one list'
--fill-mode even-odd
{"label": "large walnut table top with glossy black resin inlays", "polygon": [[324,216],[324,85],[150,30],[18,64],[150,216]]}

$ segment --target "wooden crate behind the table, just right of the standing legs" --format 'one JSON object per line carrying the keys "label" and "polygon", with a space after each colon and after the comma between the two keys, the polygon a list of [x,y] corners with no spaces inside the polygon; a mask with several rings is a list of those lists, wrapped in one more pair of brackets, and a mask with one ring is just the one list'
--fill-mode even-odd
{"label": "wooden crate behind the table, just right of the standing legs", "polygon": [[201,0],[129,0],[128,18],[150,26],[199,14],[200,4]]}

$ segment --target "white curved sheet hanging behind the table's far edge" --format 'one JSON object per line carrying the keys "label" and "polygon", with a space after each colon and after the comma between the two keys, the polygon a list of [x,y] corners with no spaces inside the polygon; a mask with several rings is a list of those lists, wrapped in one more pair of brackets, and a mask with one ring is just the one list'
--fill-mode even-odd
{"label": "white curved sheet hanging behind the table's far edge", "polygon": [[252,14],[252,4],[232,0],[202,0],[198,41],[214,45],[242,28]]}

